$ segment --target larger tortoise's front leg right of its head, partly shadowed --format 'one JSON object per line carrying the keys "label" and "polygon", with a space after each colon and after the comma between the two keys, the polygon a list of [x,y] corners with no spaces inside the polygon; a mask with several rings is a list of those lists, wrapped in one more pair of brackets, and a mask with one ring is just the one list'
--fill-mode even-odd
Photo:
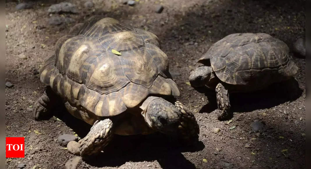
{"label": "larger tortoise's front leg right of its head, partly shadowed", "polygon": [[197,124],[193,113],[179,101],[175,102],[176,108],[181,112],[180,125],[178,126],[179,133],[184,140],[198,139],[200,128]]}

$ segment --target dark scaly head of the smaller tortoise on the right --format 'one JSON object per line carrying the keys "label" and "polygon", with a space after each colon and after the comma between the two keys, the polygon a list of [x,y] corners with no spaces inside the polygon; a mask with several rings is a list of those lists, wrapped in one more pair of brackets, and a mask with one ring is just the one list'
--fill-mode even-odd
{"label": "dark scaly head of the smaller tortoise on the right", "polygon": [[193,87],[209,85],[213,82],[215,76],[211,66],[201,66],[190,72],[189,82]]}

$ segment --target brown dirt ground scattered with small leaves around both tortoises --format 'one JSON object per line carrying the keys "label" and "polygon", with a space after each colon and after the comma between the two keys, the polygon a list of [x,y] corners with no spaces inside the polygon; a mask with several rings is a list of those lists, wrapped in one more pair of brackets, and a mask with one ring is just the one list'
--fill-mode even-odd
{"label": "brown dirt ground scattered with small leaves around both tortoises", "polygon": [[[305,1],[257,0],[139,0],[131,7],[119,0],[72,1],[78,14],[63,14],[71,24],[48,24],[48,7],[62,1],[33,1],[33,9],[16,10],[18,2],[6,3],[6,137],[25,137],[25,158],[7,158],[6,168],[65,168],[75,157],[56,139],[76,132],[84,137],[90,129],[59,108],[61,120],[35,121],[31,107],[44,92],[38,69],[55,50],[56,41],[71,26],[93,15],[113,17],[157,35],[168,55],[169,70],[179,86],[177,98],[191,108],[200,126],[199,142],[193,147],[175,146],[162,134],[118,136],[92,162],[77,168],[304,168],[305,167],[305,60],[293,57],[299,67],[297,81],[272,85],[267,90],[230,95],[233,121],[217,120],[216,96],[206,89],[186,84],[196,61],[226,35],[264,32],[293,42],[305,36]],[[164,6],[155,12],[156,4]],[[53,14],[58,16],[58,14]],[[25,55],[27,59],[20,59]],[[287,87],[292,83],[294,92]],[[253,120],[265,127],[251,133]],[[230,127],[236,126],[235,129]],[[213,128],[220,128],[218,134]],[[250,147],[245,147],[248,143]],[[206,162],[203,161],[206,159]]]}

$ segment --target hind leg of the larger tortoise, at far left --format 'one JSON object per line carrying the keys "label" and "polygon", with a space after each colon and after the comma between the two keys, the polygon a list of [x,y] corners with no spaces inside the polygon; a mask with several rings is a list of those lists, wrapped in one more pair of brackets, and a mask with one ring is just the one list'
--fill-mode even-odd
{"label": "hind leg of the larger tortoise, at far left", "polygon": [[35,102],[33,108],[33,116],[35,120],[49,119],[53,115],[53,107],[58,102],[58,96],[47,86],[43,95]]}

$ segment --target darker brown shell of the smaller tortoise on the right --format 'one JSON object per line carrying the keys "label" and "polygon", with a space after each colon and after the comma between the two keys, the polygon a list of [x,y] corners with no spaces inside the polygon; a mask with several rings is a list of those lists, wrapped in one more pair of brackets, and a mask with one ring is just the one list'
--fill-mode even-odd
{"label": "darker brown shell of the smaller tortoise on the right", "polygon": [[279,82],[298,71],[288,46],[265,33],[227,35],[198,62],[211,64],[221,81],[233,85]]}

